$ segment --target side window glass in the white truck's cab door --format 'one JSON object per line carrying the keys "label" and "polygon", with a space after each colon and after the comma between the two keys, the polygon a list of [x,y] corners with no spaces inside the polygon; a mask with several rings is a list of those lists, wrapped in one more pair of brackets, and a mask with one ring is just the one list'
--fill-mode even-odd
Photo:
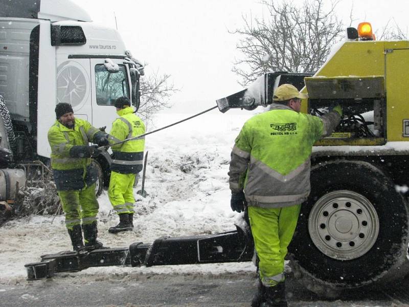
{"label": "side window glass in the white truck's cab door", "polygon": [[129,82],[125,65],[118,65],[119,72],[109,73],[104,64],[95,65],[97,104],[112,105],[118,97],[129,98]]}

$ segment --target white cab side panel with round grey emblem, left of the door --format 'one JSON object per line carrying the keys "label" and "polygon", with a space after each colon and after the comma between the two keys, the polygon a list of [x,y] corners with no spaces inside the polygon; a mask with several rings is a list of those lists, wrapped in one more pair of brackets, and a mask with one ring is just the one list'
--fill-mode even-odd
{"label": "white cab side panel with round grey emblem, left of the door", "polygon": [[71,103],[75,117],[92,122],[90,75],[88,58],[57,60],[57,103]]}

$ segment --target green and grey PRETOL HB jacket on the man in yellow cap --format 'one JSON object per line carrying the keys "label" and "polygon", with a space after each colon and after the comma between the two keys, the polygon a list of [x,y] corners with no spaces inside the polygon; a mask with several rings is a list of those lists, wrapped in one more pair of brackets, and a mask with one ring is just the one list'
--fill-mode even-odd
{"label": "green and grey PRETOL HB jacket on the man in yellow cap", "polygon": [[235,140],[229,183],[243,190],[249,206],[266,208],[301,204],[310,193],[312,145],[330,135],[340,116],[321,118],[273,103],[249,119]]}

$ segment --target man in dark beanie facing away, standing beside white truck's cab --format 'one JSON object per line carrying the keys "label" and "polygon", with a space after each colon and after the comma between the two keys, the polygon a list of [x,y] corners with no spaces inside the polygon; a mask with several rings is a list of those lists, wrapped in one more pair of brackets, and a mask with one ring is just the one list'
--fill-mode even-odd
{"label": "man in dark beanie facing away, standing beside white truck's cab", "polygon": [[[119,97],[114,102],[117,118],[109,132],[111,144],[145,134],[144,122],[135,114],[127,97]],[[142,170],[145,138],[135,138],[118,145],[112,145],[111,178],[108,197],[113,209],[119,215],[119,224],[110,227],[110,233],[133,229],[134,202],[133,184],[135,176]]]}

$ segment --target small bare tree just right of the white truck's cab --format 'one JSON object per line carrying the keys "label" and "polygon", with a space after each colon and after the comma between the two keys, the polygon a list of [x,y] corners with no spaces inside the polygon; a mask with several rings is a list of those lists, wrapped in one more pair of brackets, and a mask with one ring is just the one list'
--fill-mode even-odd
{"label": "small bare tree just right of the white truck's cab", "polygon": [[178,89],[169,82],[169,78],[170,75],[161,75],[158,71],[141,77],[141,103],[138,115],[143,121],[150,122],[155,113],[171,107],[169,99]]}

